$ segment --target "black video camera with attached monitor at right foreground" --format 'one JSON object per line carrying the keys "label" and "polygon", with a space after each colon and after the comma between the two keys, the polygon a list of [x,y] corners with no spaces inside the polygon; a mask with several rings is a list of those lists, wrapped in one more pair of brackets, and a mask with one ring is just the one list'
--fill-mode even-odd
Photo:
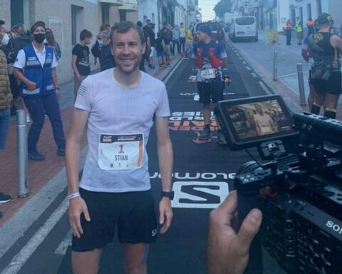
{"label": "black video camera with attached monitor at right foreground", "polygon": [[[230,148],[257,146],[266,160],[244,164],[234,178],[240,222],[252,208],[263,213],[245,273],[262,273],[261,245],[287,273],[342,273],[342,123],[291,117],[279,96],[222,101],[215,113]],[[296,149],[289,153],[282,141]],[[260,196],[266,187],[271,192]]]}

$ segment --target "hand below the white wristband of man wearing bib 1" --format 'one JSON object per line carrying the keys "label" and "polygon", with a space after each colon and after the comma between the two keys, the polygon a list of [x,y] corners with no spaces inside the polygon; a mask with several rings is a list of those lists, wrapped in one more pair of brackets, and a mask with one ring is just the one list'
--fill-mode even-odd
{"label": "hand below the white wristband of man wearing bib 1", "polygon": [[81,238],[83,229],[81,225],[81,214],[83,213],[84,218],[90,222],[90,215],[86,205],[86,201],[81,197],[73,198],[69,201],[69,222],[73,235],[76,238]]}

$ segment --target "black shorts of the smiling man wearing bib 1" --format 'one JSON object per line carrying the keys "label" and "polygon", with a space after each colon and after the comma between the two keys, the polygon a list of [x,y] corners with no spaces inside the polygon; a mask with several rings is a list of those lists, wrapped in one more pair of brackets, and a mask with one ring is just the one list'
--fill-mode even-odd
{"label": "black shorts of the smiling man wearing bib 1", "polygon": [[81,215],[83,234],[73,236],[73,251],[104,248],[113,241],[115,226],[120,243],[153,243],[157,239],[155,205],[150,191],[105,193],[80,188],[90,222]]}

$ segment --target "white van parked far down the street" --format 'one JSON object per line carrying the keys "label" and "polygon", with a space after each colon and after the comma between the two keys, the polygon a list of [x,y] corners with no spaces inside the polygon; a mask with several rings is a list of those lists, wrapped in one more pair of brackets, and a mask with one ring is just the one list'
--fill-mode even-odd
{"label": "white van parked far down the street", "polygon": [[239,39],[258,41],[257,19],[254,16],[233,18],[230,25],[229,38],[233,42]]}

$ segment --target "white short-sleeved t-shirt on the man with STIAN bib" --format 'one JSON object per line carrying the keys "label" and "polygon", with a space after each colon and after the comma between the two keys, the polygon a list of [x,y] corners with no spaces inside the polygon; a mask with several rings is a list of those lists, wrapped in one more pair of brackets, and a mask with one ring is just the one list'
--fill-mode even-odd
{"label": "white short-sleeved t-shirt on the man with STIAN bib", "polygon": [[[80,186],[98,192],[147,191],[150,189],[150,174],[145,146],[153,117],[170,116],[166,87],[162,81],[143,72],[135,88],[120,86],[115,81],[113,69],[88,76],[78,89],[75,107],[89,112],[89,151]],[[100,136],[103,140],[103,136],[107,138],[115,134],[143,136],[139,168],[116,169],[116,163],[112,169],[110,166],[107,170],[100,167],[103,151],[109,152],[113,162],[117,156],[121,157],[103,149],[102,146],[108,144],[100,141]],[[115,143],[115,147],[120,147],[122,143],[117,145]]]}

